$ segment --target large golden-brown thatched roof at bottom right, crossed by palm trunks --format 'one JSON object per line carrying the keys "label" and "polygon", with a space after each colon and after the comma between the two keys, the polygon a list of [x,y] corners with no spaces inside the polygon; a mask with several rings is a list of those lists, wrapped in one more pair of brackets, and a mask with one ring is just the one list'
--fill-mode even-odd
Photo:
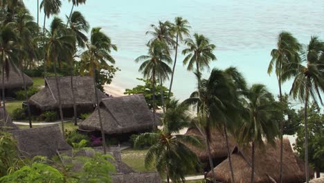
{"label": "large golden-brown thatched roof at bottom right, crossed by palm trunks", "polygon": [[[284,139],[283,149],[283,182],[303,182],[303,173],[294,157],[289,139]],[[251,179],[251,147],[236,149],[231,155],[235,182],[250,182]],[[255,178],[254,182],[270,183],[271,179],[279,182],[280,141],[273,147],[267,144],[264,148],[255,148]],[[231,182],[228,159],[214,168],[216,180]],[[211,171],[207,175],[211,177]]]}

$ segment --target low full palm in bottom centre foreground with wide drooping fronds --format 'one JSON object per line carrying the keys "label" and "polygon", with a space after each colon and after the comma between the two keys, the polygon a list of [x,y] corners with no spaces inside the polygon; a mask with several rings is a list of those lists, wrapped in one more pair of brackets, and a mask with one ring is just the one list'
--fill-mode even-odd
{"label": "low full palm in bottom centre foreground with wide drooping fronds", "polygon": [[150,141],[152,146],[145,156],[145,167],[154,162],[156,171],[166,174],[167,182],[184,182],[184,175],[199,163],[197,155],[186,144],[201,146],[201,141],[194,136],[179,134],[179,130],[189,125],[188,106],[179,105],[175,100],[167,105],[163,129],[138,135],[134,145]]}

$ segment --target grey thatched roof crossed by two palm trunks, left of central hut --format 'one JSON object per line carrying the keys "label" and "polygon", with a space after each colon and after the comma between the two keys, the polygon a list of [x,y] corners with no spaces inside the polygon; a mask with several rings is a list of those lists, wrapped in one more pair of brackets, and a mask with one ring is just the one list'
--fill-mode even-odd
{"label": "grey thatched roof crossed by two palm trunks, left of central hut", "polygon": [[[73,98],[71,91],[71,77],[58,77],[62,107],[73,107]],[[73,93],[75,103],[78,106],[94,105],[93,78],[87,76],[73,77]],[[107,98],[105,94],[98,89],[99,100]],[[58,92],[56,89],[56,80],[54,77],[45,79],[45,87],[29,99],[30,104],[36,105],[41,110],[55,110],[58,106]]]}

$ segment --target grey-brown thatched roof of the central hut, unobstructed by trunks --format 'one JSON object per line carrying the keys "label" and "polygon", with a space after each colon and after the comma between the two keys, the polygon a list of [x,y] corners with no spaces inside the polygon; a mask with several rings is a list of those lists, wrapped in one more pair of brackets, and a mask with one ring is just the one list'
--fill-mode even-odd
{"label": "grey-brown thatched roof of the central hut, unobstructed by trunks", "polygon": [[[153,115],[143,94],[105,98],[100,113],[106,134],[122,134],[152,128]],[[79,124],[82,130],[100,130],[98,110]]]}

